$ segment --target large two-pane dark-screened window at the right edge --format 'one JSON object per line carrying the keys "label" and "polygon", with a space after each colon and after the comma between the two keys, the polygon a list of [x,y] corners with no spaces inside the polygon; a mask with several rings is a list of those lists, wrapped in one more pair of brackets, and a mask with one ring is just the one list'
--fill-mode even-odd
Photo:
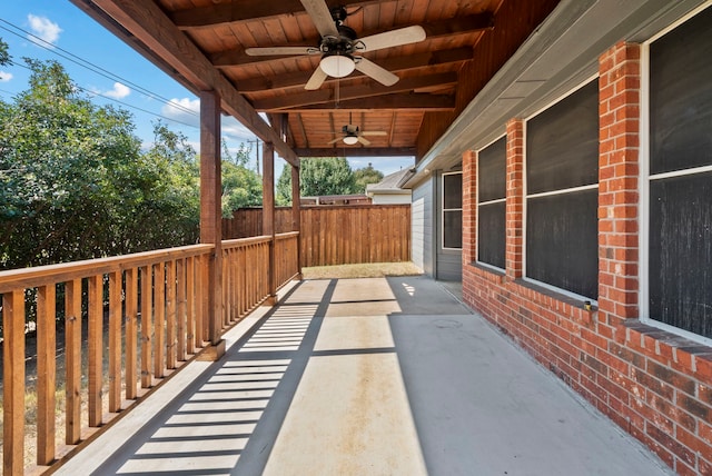
{"label": "large two-pane dark-screened window at the right edge", "polygon": [[643,308],[654,321],[705,338],[712,338],[710,29],[712,8],[649,47],[647,309]]}

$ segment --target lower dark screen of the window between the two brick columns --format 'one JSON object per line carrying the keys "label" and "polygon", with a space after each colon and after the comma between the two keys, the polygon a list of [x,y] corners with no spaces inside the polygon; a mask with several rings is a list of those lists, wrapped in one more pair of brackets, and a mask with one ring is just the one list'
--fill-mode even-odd
{"label": "lower dark screen of the window between the two brick columns", "polygon": [[599,190],[527,199],[526,276],[599,296]]}

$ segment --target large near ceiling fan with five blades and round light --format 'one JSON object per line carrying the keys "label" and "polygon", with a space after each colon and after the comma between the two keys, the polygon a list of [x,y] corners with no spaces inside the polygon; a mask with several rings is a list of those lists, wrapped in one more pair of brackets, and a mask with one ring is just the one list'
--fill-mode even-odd
{"label": "large near ceiling fan with five blades and round light", "polygon": [[344,20],[348,17],[345,8],[336,7],[329,10],[325,0],[301,0],[301,4],[322,36],[318,47],[247,48],[245,53],[249,56],[322,54],[319,67],[304,87],[307,90],[319,89],[327,77],[344,78],[354,69],[384,86],[393,86],[398,81],[398,77],[364,58],[362,53],[425,40],[425,30],[421,26],[358,38],[353,29],[344,24]]}

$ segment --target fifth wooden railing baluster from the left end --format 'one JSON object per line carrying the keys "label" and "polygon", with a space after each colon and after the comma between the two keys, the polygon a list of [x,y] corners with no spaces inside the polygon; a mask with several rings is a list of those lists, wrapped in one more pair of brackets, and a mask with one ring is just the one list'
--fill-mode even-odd
{"label": "fifth wooden railing baluster from the left end", "polygon": [[121,271],[109,274],[109,411],[121,409]]}

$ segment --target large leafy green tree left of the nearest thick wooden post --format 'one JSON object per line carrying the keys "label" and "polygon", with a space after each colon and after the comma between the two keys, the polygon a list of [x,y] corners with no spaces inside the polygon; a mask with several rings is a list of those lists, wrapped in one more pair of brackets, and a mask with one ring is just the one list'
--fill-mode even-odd
{"label": "large leafy green tree left of the nearest thick wooden post", "polygon": [[0,101],[0,268],[195,242],[195,151],[164,126],[147,153],[131,116],[78,93],[55,61]]}

